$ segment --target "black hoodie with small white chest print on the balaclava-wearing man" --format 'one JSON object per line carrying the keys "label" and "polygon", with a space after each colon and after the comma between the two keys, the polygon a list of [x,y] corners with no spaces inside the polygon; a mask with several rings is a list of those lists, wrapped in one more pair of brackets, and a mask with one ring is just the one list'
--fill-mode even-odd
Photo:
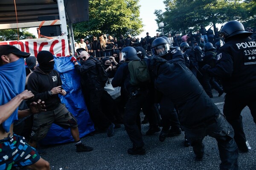
{"label": "black hoodie with small white chest print on the balaclava-wearing man", "polygon": [[61,77],[55,70],[52,70],[49,74],[45,74],[37,67],[28,79],[28,90],[32,91],[35,95],[32,101],[37,102],[38,99],[41,99],[45,102],[46,110],[53,110],[61,103],[58,94],[51,96],[48,93],[52,88],[60,85],[62,85]]}

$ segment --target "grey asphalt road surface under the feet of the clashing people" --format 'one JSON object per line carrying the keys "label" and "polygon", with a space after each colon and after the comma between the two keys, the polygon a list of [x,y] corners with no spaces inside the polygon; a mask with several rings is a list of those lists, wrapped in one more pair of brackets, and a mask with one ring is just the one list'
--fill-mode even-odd
{"label": "grey asphalt road surface under the feet of the clashing people", "polygon": [[[224,94],[221,97],[214,91],[213,102],[222,111]],[[141,115],[143,116],[143,114]],[[256,170],[256,125],[248,108],[242,111],[244,131],[250,143],[248,153],[239,153],[239,170]],[[49,161],[51,170],[218,170],[220,159],[215,139],[204,139],[205,154],[203,161],[195,161],[192,147],[184,147],[184,133],[180,136],[158,140],[159,133],[145,136],[148,124],[142,125],[146,154],[128,155],[132,147],[124,126],[115,129],[115,134],[108,137],[106,133],[86,136],[81,141],[94,148],[89,153],[76,153],[74,143],[44,147],[42,158]]]}

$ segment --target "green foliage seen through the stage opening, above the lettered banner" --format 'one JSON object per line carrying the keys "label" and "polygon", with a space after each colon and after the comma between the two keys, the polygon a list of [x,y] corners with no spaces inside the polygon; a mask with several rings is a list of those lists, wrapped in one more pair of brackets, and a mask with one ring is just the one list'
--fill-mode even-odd
{"label": "green foliage seen through the stage opening, above the lettered banner", "polygon": [[[35,35],[28,32],[29,28],[22,28],[22,31],[18,30],[19,39],[24,40],[26,37],[33,37],[36,38]],[[18,39],[17,29],[4,29],[0,30],[0,41],[11,41]]]}

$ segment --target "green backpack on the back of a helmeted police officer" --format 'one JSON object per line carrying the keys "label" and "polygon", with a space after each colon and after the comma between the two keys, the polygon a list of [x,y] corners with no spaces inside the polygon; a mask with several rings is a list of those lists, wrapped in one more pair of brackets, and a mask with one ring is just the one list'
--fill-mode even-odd
{"label": "green backpack on the back of a helmeted police officer", "polygon": [[150,75],[147,64],[144,60],[135,59],[128,63],[131,85],[141,85],[143,82],[150,82]]}

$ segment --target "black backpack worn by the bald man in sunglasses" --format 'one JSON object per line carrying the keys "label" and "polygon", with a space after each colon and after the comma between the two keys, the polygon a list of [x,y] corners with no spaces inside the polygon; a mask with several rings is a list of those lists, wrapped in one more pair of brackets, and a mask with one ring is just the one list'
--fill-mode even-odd
{"label": "black backpack worn by the bald man in sunglasses", "polygon": [[96,77],[98,77],[102,85],[105,86],[106,82],[108,81],[108,73],[102,64],[102,61],[95,58],[89,58],[89,59],[91,59],[96,63],[96,70],[98,72],[98,75]]}

